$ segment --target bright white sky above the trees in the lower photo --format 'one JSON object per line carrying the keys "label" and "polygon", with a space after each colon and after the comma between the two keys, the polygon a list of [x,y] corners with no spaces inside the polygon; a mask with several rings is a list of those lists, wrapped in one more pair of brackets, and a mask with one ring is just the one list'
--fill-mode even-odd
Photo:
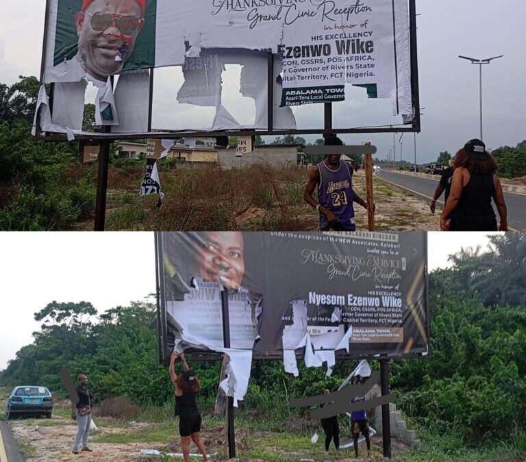
{"label": "bright white sky above the trees in the lower photo", "polygon": [[[0,233],[0,370],[40,329],[34,313],[53,300],[92,303],[99,313],[155,293],[153,233]],[[481,245],[484,233],[428,233],[429,270]],[[149,298],[155,301],[155,298]]]}

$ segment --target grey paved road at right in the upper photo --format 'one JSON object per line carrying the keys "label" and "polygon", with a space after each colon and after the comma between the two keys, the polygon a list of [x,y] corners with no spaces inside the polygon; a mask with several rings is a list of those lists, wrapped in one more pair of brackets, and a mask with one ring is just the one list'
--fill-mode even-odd
{"label": "grey paved road at right in the upper photo", "polygon": [[[413,192],[418,193],[421,196],[424,196],[431,202],[433,198],[433,193],[435,191],[438,181],[413,177],[412,175],[403,175],[401,173],[393,173],[389,170],[377,170],[375,176],[396,185],[401,186],[402,188],[412,190]],[[438,178],[438,175],[437,175]],[[508,206],[508,224],[510,227],[518,230],[526,229],[526,196],[524,194],[514,194],[513,192],[505,192],[504,198],[506,205]],[[441,201],[438,201],[440,207],[444,206],[444,194],[440,197]],[[493,204],[493,209],[497,215],[497,221],[499,220],[499,214],[497,214],[497,209]]]}

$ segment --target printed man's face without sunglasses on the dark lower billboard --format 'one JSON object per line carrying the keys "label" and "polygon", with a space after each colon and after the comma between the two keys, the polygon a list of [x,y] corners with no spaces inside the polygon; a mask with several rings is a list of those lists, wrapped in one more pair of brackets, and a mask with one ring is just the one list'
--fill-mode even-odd
{"label": "printed man's face without sunglasses on the dark lower billboard", "polygon": [[242,233],[204,233],[199,251],[199,275],[203,280],[238,290],[244,273]]}

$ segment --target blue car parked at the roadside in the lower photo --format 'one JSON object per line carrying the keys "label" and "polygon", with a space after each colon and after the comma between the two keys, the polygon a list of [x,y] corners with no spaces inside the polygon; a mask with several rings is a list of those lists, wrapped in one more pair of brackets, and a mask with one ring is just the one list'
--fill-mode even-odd
{"label": "blue car parked at the roadside in the lower photo", "polygon": [[5,417],[9,420],[15,415],[45,415],[51,419],[53,396],[46,387],[29,385],[14,387],[8,396]]}

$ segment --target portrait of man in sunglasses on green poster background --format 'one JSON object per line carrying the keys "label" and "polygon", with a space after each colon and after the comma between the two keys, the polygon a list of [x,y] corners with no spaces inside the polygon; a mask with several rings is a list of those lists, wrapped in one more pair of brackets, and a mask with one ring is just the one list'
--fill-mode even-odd
{"label": "portrait of man in sunglasses on green poster background", "polygon": [[[110,75],[154,65],[155,0],[55,1],[54,53],[46,82],[86,77],[101,86]],[[153,16],[147,16],[150,5]]]}

